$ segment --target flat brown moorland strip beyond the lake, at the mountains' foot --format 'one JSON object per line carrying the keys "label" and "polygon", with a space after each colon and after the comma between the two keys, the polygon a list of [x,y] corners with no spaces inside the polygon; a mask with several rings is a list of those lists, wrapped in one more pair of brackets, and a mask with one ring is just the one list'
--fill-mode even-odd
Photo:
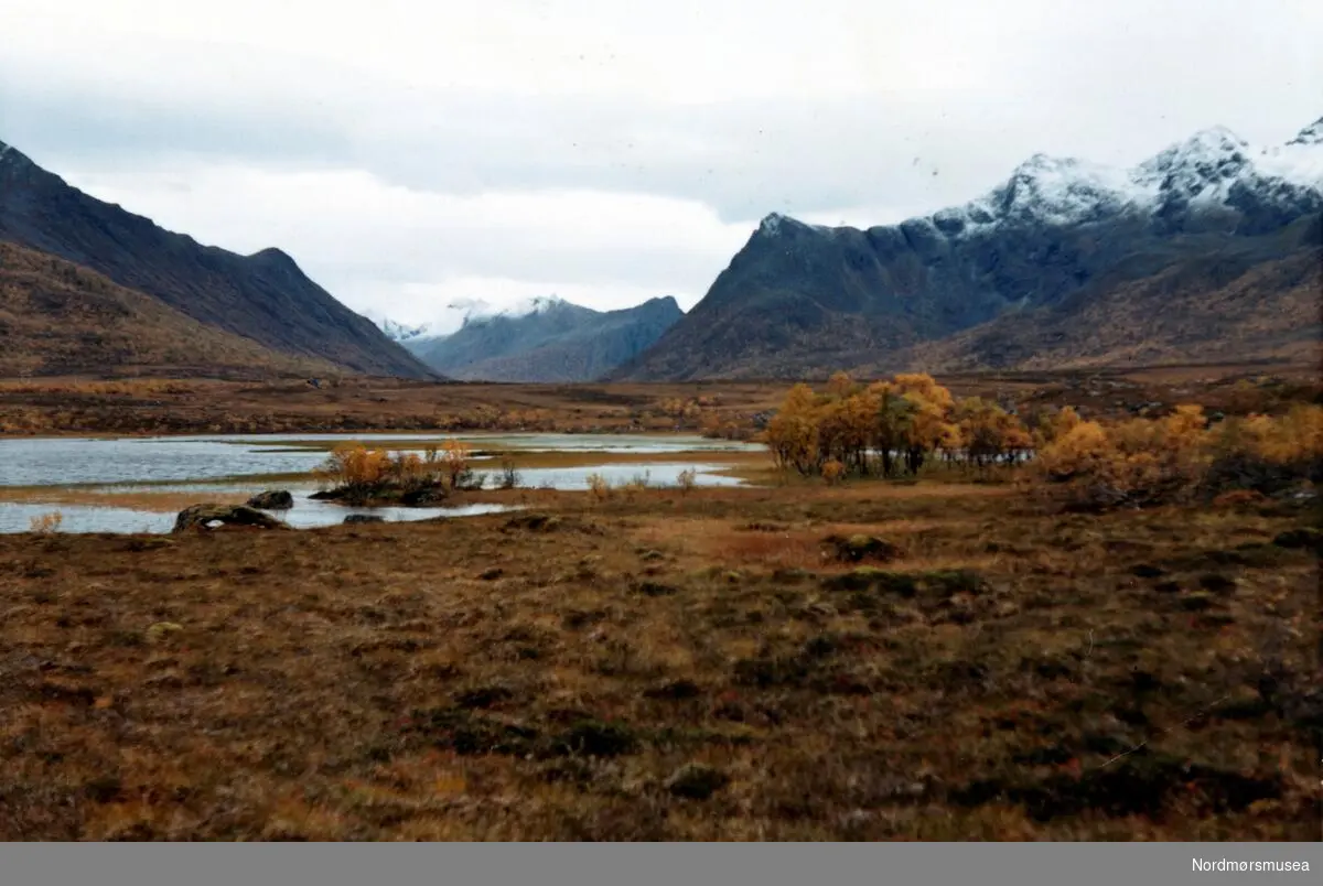
{"label": "flat brown moorland strip beyond the lake, at the mountains' foot", "polygon": [[[1084,407],[1123,415],[1143,403],[1197,402],[1228,414],[1323,395],[1318,366],[1171,365],[1134,370],[939,376],[959,397]],[[787,383],[427,383],[303,380],[0,380],[4,434],[221,434],[318,431],[673,431],[747,428]],[[677,405],[688,405],[681,414]]]}

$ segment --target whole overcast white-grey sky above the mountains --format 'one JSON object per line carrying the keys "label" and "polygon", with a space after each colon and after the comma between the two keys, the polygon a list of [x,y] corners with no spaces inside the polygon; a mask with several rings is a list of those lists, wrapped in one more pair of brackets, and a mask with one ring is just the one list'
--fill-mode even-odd
{"label": "whole overcast white-grey sky above the mountains", "polygon": [[0,0],[0,140],[340,300],[696,303],[757,221],[1323,115],[1318,0]]}

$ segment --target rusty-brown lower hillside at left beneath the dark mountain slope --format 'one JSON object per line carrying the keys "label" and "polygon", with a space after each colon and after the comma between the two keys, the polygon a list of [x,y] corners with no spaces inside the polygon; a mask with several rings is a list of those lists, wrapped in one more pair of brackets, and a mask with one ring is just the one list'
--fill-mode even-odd
{"label": "rusty-brown lower hillside at left beneath the dark mountain slope", "polygon": [[0,243],[0,377],[327,374],[64,259]]}

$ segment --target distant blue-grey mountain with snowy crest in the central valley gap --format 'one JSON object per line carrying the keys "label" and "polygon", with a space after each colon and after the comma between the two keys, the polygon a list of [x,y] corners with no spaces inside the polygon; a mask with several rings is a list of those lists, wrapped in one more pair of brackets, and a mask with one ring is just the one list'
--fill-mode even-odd
{"label": "distant blue-grey mountain with snowy crest in the central valley gap", "polygon": [[414,339],[406,346],[437,372],[464,381],[595,381],[647,349],[683,316],[671,296],[623,311],[546,298],[470,315],[452,335]]}

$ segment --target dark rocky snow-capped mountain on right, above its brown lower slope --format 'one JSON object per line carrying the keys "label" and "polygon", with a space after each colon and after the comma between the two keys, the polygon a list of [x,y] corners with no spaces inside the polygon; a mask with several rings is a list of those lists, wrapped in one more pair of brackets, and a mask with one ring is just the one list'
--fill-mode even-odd
{"label": "dark rocky snow-capped mountain on right, above its brown lower slope", "polygon": [[1323,213],[1316,131],[1323,119],[1256,151],[1211,127],[1119,171],[1033,155],[980,197],[889,226],[826,227],[771,213],[684,320],[610,380],[791,378],[877,365],[1061,304],[1098,280],[1119,287],[1199,266]]}

